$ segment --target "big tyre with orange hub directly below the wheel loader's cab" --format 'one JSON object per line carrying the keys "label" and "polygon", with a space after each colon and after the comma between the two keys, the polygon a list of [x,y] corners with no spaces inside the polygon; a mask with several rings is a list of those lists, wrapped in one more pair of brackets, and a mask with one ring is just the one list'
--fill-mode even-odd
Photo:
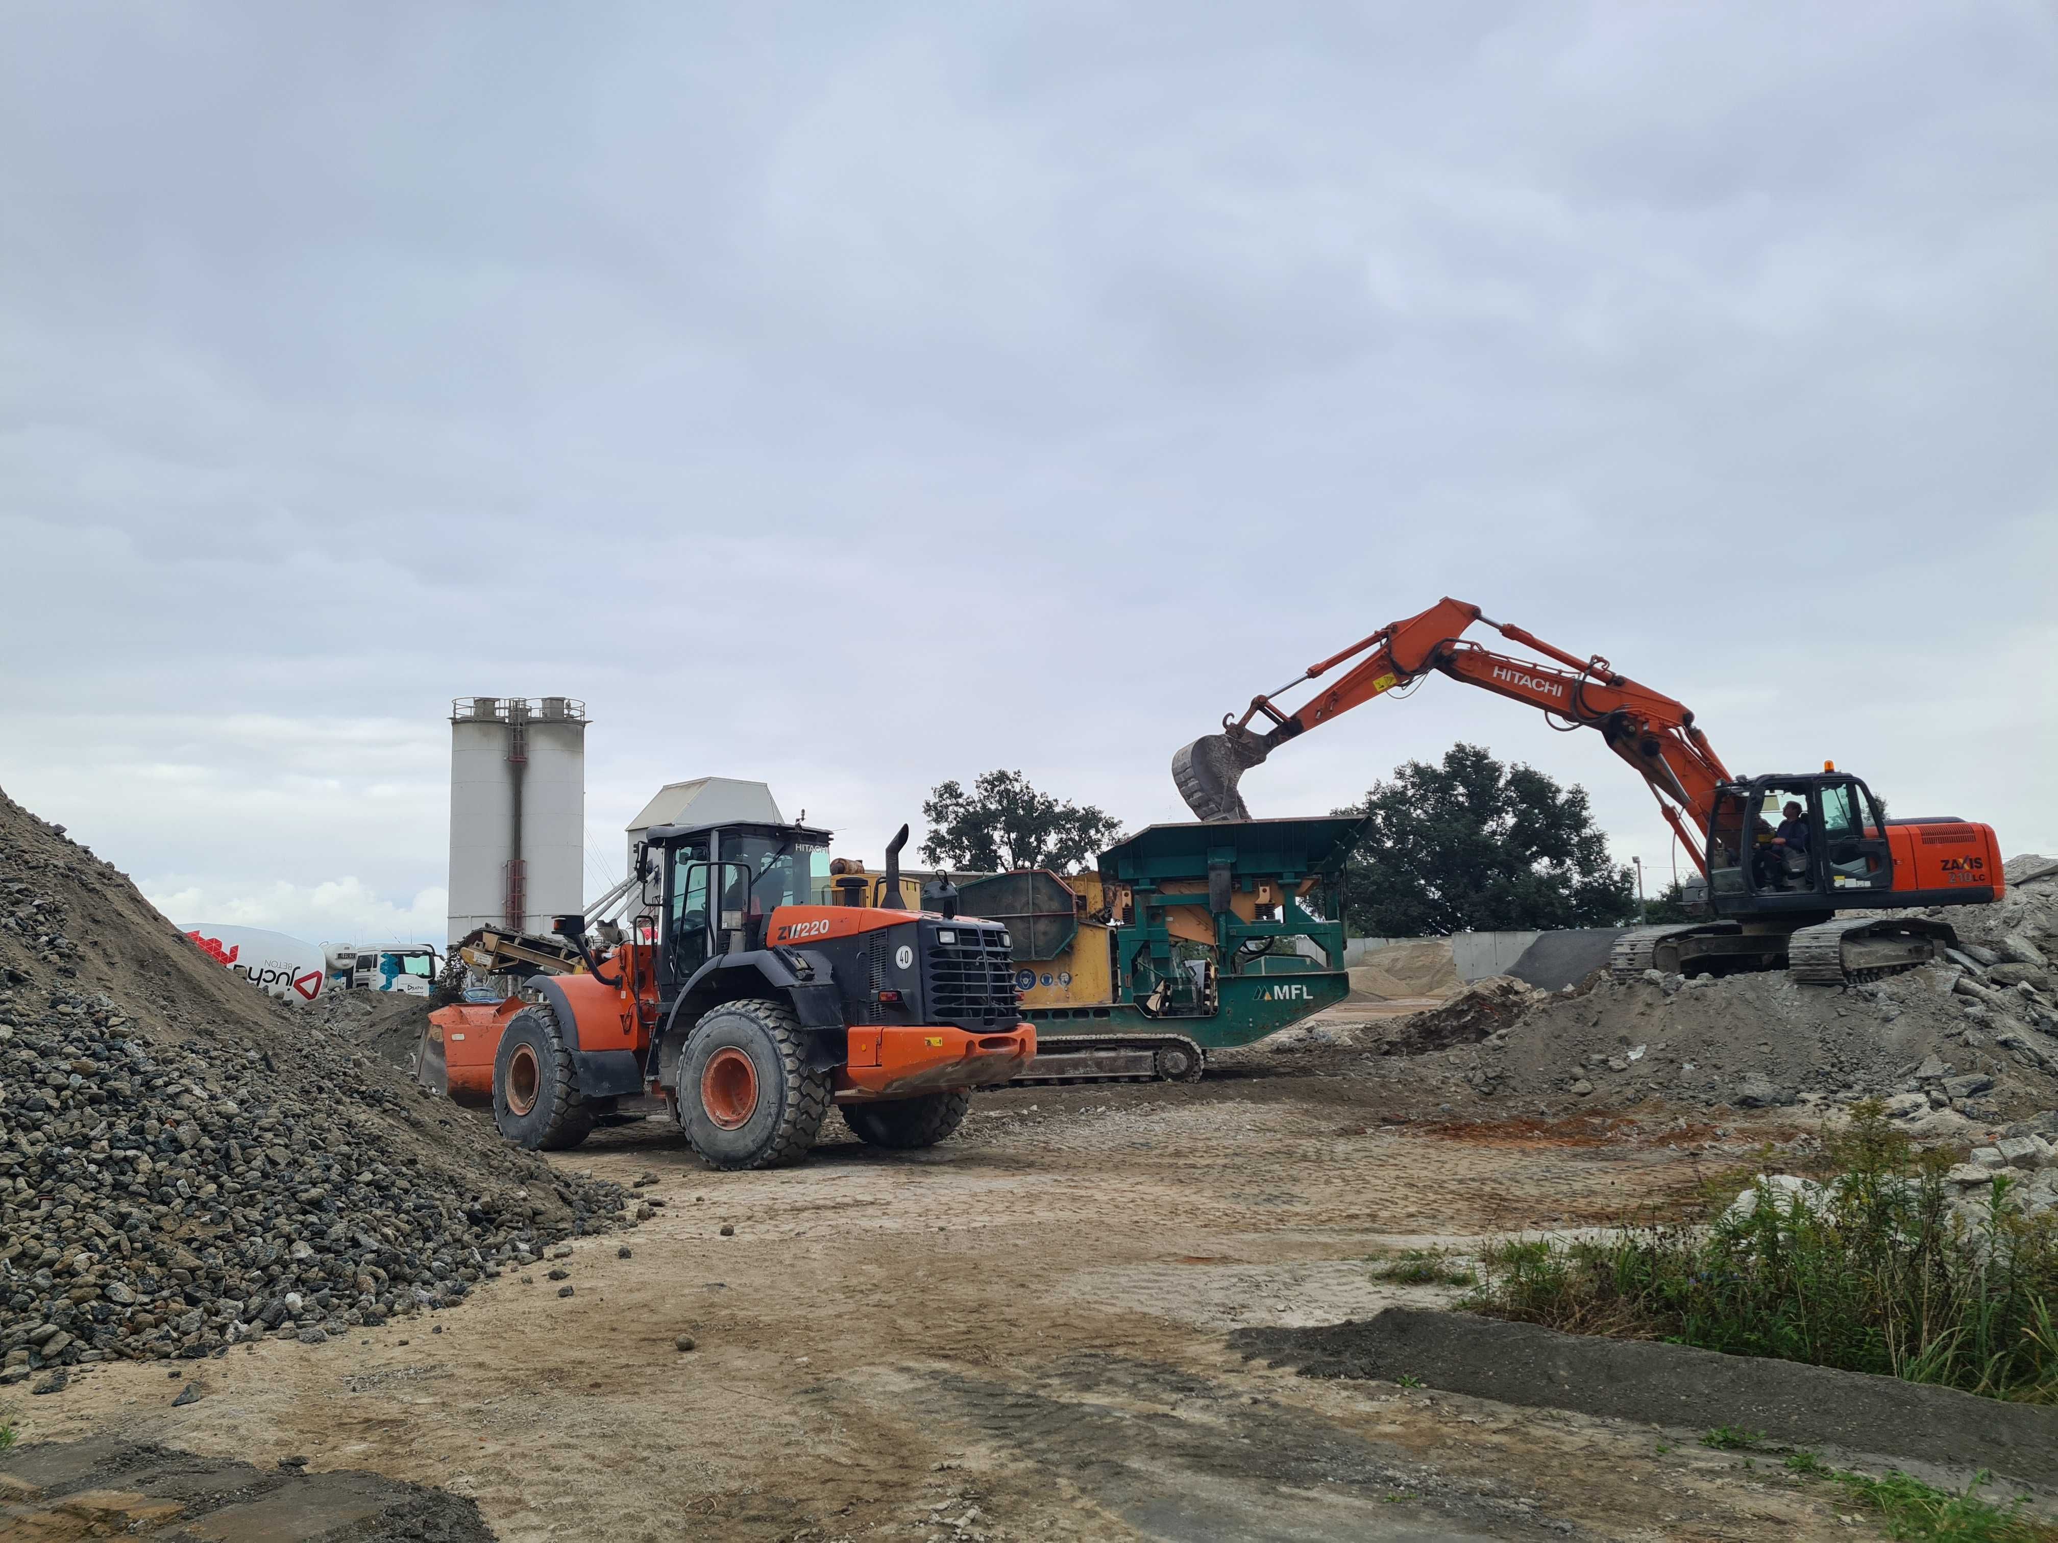
{"label": "big tyre with orange hub directly below the wheel loader's cab", "polygon": [[829,1113],[831,1074],[807,1068],[801,1020],[784,1002],[708,1008],[679,1053],[679,1129],[710,1169],[799,1162]]}

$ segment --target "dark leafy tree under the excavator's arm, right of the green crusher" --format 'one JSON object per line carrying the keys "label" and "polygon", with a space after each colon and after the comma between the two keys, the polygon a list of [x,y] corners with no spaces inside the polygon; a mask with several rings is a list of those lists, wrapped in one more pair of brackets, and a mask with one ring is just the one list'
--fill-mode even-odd
{"label": "dark leafy tree under the excavator's arm, right of the green crusher", "polygon": [[1346,922],[1360,936],[1636,918],[1636,883],[1607,860],[1587,790],[1504,767],[1480,745],[1453,745],[1443,765],[1408,761],[1338,813],[1367,817],[1348,868]]}

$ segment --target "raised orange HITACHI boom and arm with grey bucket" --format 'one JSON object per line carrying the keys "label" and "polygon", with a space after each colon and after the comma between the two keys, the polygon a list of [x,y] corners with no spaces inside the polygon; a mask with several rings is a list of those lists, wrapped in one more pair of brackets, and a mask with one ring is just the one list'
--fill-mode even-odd
{"label": "raised orange HITACHI boom and arm with grey bucket", "polygon": [[[1550,662],[1496,654],[1465,640],[1463,632],[1474,621],[1484,621],[1502,638],[1543,654]],[[1297,710],[1286,712],[1278,706],[1280,695],[1305,681],[1321,679],[1348,660],[1356,662]],[[1251,813],[1237,792],[1245,772],[1288,739],[1362,702],[1410,685],[1430,671],[1541,708],[1568,732],[1599,730],[1607,747],[1636,767],[1651,786],[1665,819],[1694,854],[1694,862],[1702,862],[1702,839],[1688,829],[1688,821],[1704,831],[1714,809],[1714,790],[1731,778],[1708,737],[1694,726],[1692,710],[1618,675],[1599,654],[1578,658],[1523,627],[1482,615],[1476,605],[1453,599],[1436,601],[1420,615],[1381,627],[1340,654],[1309,665],[1301,677],[1276,691],[1251,697],[1241,718],[1222,718],[1220,734],[1204,734],[1173,755],[1173,782],[1204,821],[1249,819]],[[1270,726],[1251,728],[1257,718]]]}

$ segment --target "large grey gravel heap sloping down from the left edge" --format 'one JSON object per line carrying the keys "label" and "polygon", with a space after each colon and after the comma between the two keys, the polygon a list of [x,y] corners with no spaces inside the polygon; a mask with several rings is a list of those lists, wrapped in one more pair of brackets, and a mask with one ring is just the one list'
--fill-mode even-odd
{"label": "large grey gravel heap sloping down from the left edge", "polygon": [[0,796],[0,1385],[319,1343],[630,1224]]}

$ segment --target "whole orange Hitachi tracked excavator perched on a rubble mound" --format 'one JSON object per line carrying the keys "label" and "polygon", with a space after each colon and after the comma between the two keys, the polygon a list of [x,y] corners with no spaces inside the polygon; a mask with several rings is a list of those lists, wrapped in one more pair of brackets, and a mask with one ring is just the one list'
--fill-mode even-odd
{"label": "whole orange Hitachi tracked excavator perched on a rubble mound", "polygon": [[[1548,662],[1465,640],[1474,621]],[[1356,662],[1301,708],[1278,706],[1280,695],[1346,660]],[[1679,702],[1618,673],[1599,654],[1578,658],[1453,599],[1251,697],[1241,718],[1222,718],[1220,734],[1204,734],[1173,755],[1173,782],[1204,821],[1249,819],[1237,790],[1245,772],[1288,739],[1430,671],[1541,708],[1566,732],[1599,730],[1648,784],[1706,876],[1712,918],[1632,928],[1609,959],[1616,975],[1786,969],[1799,981],[1867,981],[1916,969],[1955,946],[1951,926],[1912,911],[1986,905],[2002,895],[2000,846],[1990,825],[1955,815],[1887,819],[1871,788],[1830,761],[1821,772],[1731,776]],[[1259,718],[1270,726],[1253,728]]]}

